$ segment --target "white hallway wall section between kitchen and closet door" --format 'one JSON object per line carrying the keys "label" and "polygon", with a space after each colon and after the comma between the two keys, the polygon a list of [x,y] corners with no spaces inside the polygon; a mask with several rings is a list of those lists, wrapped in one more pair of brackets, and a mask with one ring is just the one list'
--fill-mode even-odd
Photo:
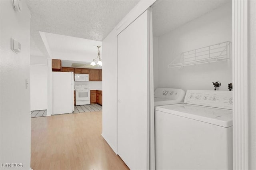
{"label": "white hallway wall section between kitchen and closet door", "polygon": [[102,41],[102,136],[117,152],[117,37],[116,29]]}

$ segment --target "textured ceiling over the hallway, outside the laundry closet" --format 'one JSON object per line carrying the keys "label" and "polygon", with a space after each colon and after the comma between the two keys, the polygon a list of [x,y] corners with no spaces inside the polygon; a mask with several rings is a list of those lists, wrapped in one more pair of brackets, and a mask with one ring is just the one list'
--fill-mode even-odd
{"label": "textured ceiling over the hallway, outside the laundry closet", "polygon": [[31,55],[49,57],[40,37],[48,32],[102,41],[139,0],[24,0],[31,13]]}

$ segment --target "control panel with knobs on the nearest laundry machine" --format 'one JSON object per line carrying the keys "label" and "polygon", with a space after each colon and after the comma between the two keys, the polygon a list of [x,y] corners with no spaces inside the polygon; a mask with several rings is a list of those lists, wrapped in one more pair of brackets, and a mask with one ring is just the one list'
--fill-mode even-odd
{"label": "control panel with knobs on the nearest laundry machine", "polygon": [[232,109],[232,91],[188,90],[184,103]]}

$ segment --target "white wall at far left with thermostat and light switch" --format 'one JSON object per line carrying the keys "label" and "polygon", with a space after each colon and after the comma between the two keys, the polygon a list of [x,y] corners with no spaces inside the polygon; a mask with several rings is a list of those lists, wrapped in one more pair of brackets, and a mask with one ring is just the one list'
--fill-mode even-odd
{"label": "white wall at far left with thermostat and light switch", "polygon": [[[0,164],[22,163],[30,169],[30,11],[22,1],[15,12],[12,1],[0,2]],[[11,51],[11,38],[21,44],[21,53]]]}

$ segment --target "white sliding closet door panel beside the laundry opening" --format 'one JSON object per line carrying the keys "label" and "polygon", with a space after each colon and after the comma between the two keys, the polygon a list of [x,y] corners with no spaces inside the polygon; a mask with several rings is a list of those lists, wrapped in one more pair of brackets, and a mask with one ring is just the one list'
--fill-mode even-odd
{"label": "white sliding closet door panel beside the laundry opening", "polygon": [[149,166],[149,12],[118,34],[118,155],[134,170]]}

